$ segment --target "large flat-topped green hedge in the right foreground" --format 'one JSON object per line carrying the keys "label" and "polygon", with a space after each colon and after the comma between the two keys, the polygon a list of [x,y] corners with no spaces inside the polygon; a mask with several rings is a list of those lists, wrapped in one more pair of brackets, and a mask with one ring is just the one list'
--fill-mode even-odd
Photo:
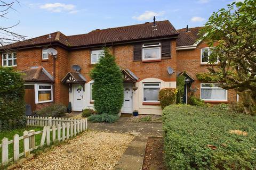
{"label": "large flat-topped green hedge in the right foreground", "polygon": [[[163,128],[164,157],[169,169],[256,167],[255,116],[218,107],[171,105],[163,111]],[[230,130],[247,135],[231,134]]]}

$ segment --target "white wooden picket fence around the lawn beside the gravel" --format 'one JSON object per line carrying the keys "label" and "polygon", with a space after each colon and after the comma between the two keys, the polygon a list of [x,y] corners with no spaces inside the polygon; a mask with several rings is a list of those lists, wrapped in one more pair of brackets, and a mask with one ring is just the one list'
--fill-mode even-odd
{"label": "white wooden picket fence around the lawn beside the gravel", "polygon": [[[37,123],[35,123],[36,119],[33,119],[33,118],[29,118],[28,119],[29,122],[27,124],[31,125],[30,121],[32,122],[33,120],[34,120],[33,126],[37,126]],[[38,120],[39,120],[38,126],[43,126],[41,124],[41,120],[49,121],[49,118],[48,119],[39,118]],[[36,122],[38,120],[36,120]],[[19,134],[15,134],[13,136],[13,140],[10,140],[10,141],[7,138],[3,138],[2,144],[0,144],[0,148],[2,148],[2,164],[0,165],[7,165],[11,161],[15,162],[22,156],[27,157],[30,154],[30,151],[33,151],[39,147],[43,147],[45,145],[45,139],[46,139],[46,145],[50,146],[51,143],[54,143],[56,141],[68,140],[70,137],[74,137],[78,133],[81,133],[87,130],[87,118],[83,118],[81,120],[70,120],[70,121],[62,120],[60,122],[58,119],[58,122],[54,122],[52,126],[50,126],[47,123],[44,122],[44,128],[42,131],[37,131],[37,132],[35,132],[35,130],[24,131],[23,136],[20,137]],[[42,134],[41,142],[38,146],[36,146],[35,135],[39,135],[39,134]],[[20,140],[23,140],[23,152],[20,152],[20,146],[19,146]],[[9,145],[13,145],[13,157],[11,158],[9,158]]]}

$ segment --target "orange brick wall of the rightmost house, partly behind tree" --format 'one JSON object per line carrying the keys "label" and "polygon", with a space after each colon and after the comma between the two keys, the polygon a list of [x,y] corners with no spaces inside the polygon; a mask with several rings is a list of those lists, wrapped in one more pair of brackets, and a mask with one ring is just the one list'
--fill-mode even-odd
{"label": "orange brick wall of the rightmost house, partly behind tree", "polygon": [[[208,72],[207,65],[201,65],[201,48],[209,47],[205,42],[200,43],[196,49],[177,50],[177,70],[186,71],[195,79],[191,88],[198,88],[195,95],[200,97],[200,81],[196,78],[197,73]],[[235,90],[228,90],[228,102],[236,101]]]}

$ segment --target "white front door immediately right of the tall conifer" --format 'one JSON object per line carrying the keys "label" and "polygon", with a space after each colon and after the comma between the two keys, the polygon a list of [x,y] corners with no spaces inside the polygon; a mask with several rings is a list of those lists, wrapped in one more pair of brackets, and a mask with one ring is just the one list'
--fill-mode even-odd
{"label": "white front door immediately right of the tall conifer", "polygon": [[124,83],[124,104],[122,107],[122,113],[132,113],[132,83]]}

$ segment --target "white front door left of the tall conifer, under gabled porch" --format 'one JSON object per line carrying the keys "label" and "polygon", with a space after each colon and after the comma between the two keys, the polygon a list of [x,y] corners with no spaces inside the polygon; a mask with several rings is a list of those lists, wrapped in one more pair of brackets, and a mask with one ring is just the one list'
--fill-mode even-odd
{"label": "white front door left of the tall conifer, under gabled porch", "polygon": [[73,111],[82,111],[83,109],[83,98],[84,91],[83,88],[78,84],[73,84]]}

